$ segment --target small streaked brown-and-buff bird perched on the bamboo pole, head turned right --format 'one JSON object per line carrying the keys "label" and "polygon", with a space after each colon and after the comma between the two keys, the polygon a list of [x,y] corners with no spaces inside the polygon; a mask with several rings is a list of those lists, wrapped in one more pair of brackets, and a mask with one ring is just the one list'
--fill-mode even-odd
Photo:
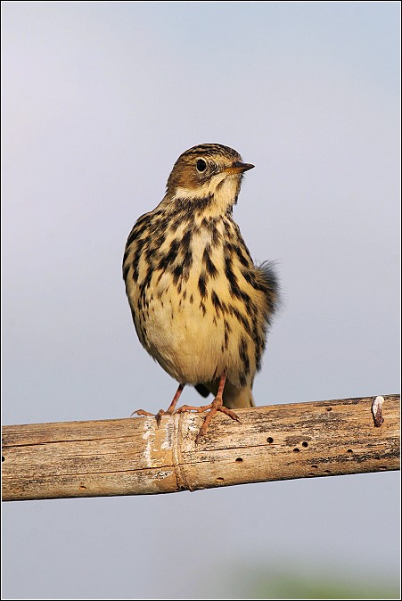
{"label": "small streaked brown-and-buff bird perched on the bamboo pole, head turned right", "polygon": [[[253,168],[229,146],[193,146],[127,238],[123,278],[135,331],[178,383],[158,425],[166,414],[208,411],[196,443],[217,412],[240,422],[233,409],[255,406],[251,388],[279,304],[274,262],[253,262],[233,216],[243,174]],[[185,385],[214,399],[176,408]]]}

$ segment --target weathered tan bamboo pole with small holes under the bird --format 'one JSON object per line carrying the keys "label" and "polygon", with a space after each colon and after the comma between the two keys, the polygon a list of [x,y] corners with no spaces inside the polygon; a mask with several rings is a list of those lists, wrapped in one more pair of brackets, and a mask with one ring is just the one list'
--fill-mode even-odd
{"label": "weathered tan bamboo pole with small holes under the bird", "polygon": [[3,498],[101,497],[399,468],[399,396],[90,422],[6,425]]}

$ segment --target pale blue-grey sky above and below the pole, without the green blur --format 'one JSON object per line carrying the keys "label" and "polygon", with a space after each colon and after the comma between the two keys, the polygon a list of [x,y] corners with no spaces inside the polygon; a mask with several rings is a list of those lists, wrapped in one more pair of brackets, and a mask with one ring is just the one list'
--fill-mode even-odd
{"label": "pale blue-grey sky above and below the pole, without the green blur", "polygon": [[[256,165],[234,216],[282,281],[258,405],[399,391],[398,2],[4,2],[2,21],[5,424],[168,406],[121,259],[206,142]],[[3,595],[247,597],[283,569],[397,582],[398,515],[398,473],[9,503]]]}

